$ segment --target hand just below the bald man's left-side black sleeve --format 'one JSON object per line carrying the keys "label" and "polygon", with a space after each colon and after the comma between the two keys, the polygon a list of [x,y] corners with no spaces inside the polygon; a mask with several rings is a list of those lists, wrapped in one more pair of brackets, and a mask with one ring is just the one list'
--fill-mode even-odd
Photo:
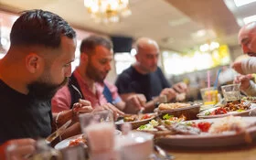
{"label": "hand just below the bald man's left-side black sleeve", "polygon": [[125,110],[138,112],[141,108],[144,108],[145,102],[144,94],[133,94],[127,98]]}

